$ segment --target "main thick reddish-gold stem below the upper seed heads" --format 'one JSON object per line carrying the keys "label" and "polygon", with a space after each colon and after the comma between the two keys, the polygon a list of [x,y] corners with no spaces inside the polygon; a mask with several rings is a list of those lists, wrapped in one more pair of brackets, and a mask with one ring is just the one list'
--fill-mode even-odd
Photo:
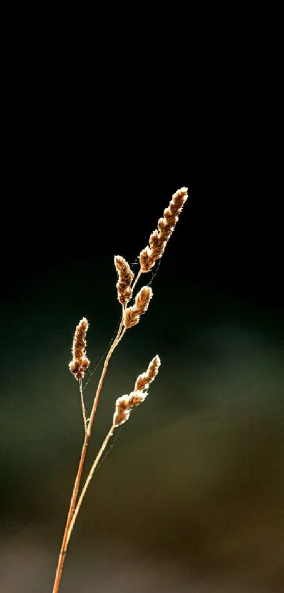
{"label": "main thick reddish-gold stem below the upper seed heads", "polygon": [[79,491],[79,487],[80,487],[80,481],[82,478],[82,470],[84,467],[84,463],[85,463],[85,457],[87,454],[87,446],[89,443],[89,438],[91,436],[92,433],[92,425],[94,422],[94,415],[96,413],[97,410],[97,404],[99,401],[99,395],[101,393],[101,387],[103,385],[104,382],[104,377],[106,375],[106,369],[109,365],[109,360],[111,358],[111,355],[113,353],[113,350],[116,348],[116,346],[118,345],[118,342],[120,341],[120,337],[121,337],[121,332],[123,330],[123,317],[121,319],[121,323],[118,327],[118,332],[116,334],[116,338],[113,340],[113,344],[111,344],[111,348],[109,348],[109,352],[106,355],[106,359],[104,361],[104,367],[103,370],[101,372],[101,377],[99,380],[99,384],[97,387],[97,392],[96,395],[94,397],[94,403],[92,406],[92,412],[91,415],[89,417],[89,425],[87,427],[87,432],[85,434],[85,440],[83,442],[82,445],[82,452],[81,452],[81,457],[80,457],[80,462],[79,462],[79,466],[78,466],[78,471],[77,471],[77,475],[75,478],[75,483],[74,483],[74,488],[73,488],[73,494],[70,500],[70,507],[69,507],[69,511],[68,511],[68,516],[66,519],[66,527],[65,527],[65,531],[63,534],[63,540],[62,540],[62,544],[61,544],[61,551],[59,553],[59,557],[58,557],[58,565],[57,565],[57,569],[56,569],[56,575],[55,575],[55,580],[54,580],[54,588],[53,588],[53,592],[52,593],[58,593],[58,589],[59,589],[59,585],[60,585],[60,581],[61,581],[61,575],[62,575],[62,569],[63,569],[63,564],[64,564],[64,560],[65,560],[65,556],[66,556],[66,551],[67,551],[67,546],[68,546],[68,530],[70,527],[70,523],[73,519],[73,513],[75,510],[75,504],[76,504],[76,500],[78,497],[78,491]]}

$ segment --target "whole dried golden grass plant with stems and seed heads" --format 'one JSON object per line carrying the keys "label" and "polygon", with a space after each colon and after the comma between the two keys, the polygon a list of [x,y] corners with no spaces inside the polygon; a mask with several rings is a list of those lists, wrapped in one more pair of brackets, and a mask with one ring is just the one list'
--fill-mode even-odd
{"label": "whole dried golden grass plant with stems and seed heads", "polygon": [[[106,370],[109,365],[109,360],[113,354],[113,351],[118,346],[121,339],[123,339],[123,336],[125,335],[126,331],[137,325],[140,322],[141,315],[144,315],[144,313],[147,312],[149,302],[153,296],[152,288],[150,288],[149,286],[142,286],[142,288],[137,292],[137,294],[134,297],[137,281],[140,279],[142,274],[146,274],[147,272],[152,270],[156,261],[162,257],[166,244],[169,238],[171,237],[173,230],[175,229],[175,225],[178,222],[178,216],[180,215],[180,212],[182,211],[186,200],[187,187],[182,187],[181,189],[178,189],[178,191],[175,192],[175,194],[173,194],[168,208],[166,208],[163,211],[163,217],[159,218],[157,228],[149,237],[149,245],[142,249],[142,252],[140,253],[140,269],[137,273],[136,278],[135,274],[130,269],[128,262],[126,262],[123,257],[121,257],[120,255],[116,255],[114,257],[114,265],[116,266],[118,278],[116,283],[117,295],[118,301],[122,307],[121,322],[119,324],[117,334],[112,341],[111,347],[109,348],[109,351],[106,354],[104,366],[97,386],[97,392],[94,395],[92,411],[89,414],[89,418],[87,418],[87,413],[85,410],[82,389],[82,380],[84,378],[85,371],[89,367],[89,360],[86,356],[86,337],[89,322],[85,317],[83,317],[75,329],[72,346],[72,360],[69,364],[69,369],[73,373],[75,380],[78,381],[80,399],[82,404],[82,417],[84,422],[85,437],[84,442],[82,444],[80,462],[78,465],[78,471],[75,478],[73,493],[70,499],[70,507],[66,519],[66,527],[63,534],[61,551],[58,557],[58,565],[54,580],[53,593],[58,593],[59,585],[61,582],[63,563],[66,557],[66,551],[68,548],[68,543],[70,541],[70,536],[72,534],[73,527],[78,517],[78,512],[80,511],[80,507],[82,505],[82,501],[85,497],[85,493],[87,491],[89,483],[92,480],[92,476],[94,475],[94,472],[96,471],[96,468],[99,464],[99,460],[101,459],[102,454],[106,450],[109,440],[111,439],[116,428],[121,424],[125,423],[130,417],[130,412],[137,406],[142,404],[142,401],[144,401],[144,399],[147,397],[147,389],[149,388],[149,385],[154,381],[159,371],[161,361],[159,356],[156,355],[149,363],[147,370],[145,372],[142,372],[142,374],[139,375],[139,377],[137,377],[133,391],[130,392],[130,394],[118,397],[118,399],[116,400],[116,406],[115,411],[113,413],[111,428],[109,429],[109,432],[107,433],[106,438],[104,439],[104,442],[102,443],[101,448],[99,449],[97,457],[94,459],[91,469],[89,469],[89,474],[87,475],[85,483],[83,484],[80,490],[82,470],[85,466],[85,459],[87,454],[87,445],[92,435],[94,416],[97,411],[97,404],[99,401],[99,396],[101,394],[101,387],[104,383],[104,378],[106,376]],[[129,305],[130,300],[132,300],[132,298],[134,298],[134,303],[133,305]]]}

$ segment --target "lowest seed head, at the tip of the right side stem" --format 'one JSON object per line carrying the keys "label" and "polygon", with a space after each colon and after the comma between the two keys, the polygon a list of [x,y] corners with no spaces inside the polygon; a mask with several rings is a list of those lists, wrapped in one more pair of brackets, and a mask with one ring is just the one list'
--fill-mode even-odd
{"label": "lowest seed head, at the tip of the right side stem", "polygon": [[[116,400],[116,411],[113,416],[113,426],[120,426],[126,422],[130,416],[130,411],[142,404],[142,401],[146,399],[147,392],[145,392],[144,389],[154,381],[154,378],[159,371],[160,364],[161,360],[159,356],[156,355],[153,360],[151,360],[147,371],[137,377],[134,391],[129,395],[118,397]],[[137,384],[140,384],[142,389],[137,389]]]}

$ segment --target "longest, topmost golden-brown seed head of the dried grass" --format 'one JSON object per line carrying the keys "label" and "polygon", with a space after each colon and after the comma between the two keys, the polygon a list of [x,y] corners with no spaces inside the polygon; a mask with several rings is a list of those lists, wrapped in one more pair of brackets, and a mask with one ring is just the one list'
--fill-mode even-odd
{"label": "longest, topmost golden-brown seed head of the dried grass", "polygon": [[149,238],[149,245],[142,249],[140,253],[140,269],[142,272],[151,270],[156,260],[162,257],[187,197],[187,187],[182,187],[173,194],[168,208],[163,211],[163,218],[159,218],[158,229],[153,231]]}

